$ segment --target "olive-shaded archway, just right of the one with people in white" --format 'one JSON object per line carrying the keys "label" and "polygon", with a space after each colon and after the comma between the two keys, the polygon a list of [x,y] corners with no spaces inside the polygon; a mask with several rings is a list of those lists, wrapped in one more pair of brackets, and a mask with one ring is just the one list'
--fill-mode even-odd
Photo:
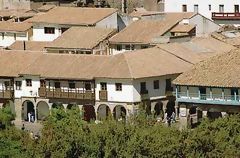
{"label": "olive-shaded archway, just right of the one with people in white", "polygon": [[37,104],[37,119],[44,120],[50,114],[49,106],[45,101],[40,101]]}

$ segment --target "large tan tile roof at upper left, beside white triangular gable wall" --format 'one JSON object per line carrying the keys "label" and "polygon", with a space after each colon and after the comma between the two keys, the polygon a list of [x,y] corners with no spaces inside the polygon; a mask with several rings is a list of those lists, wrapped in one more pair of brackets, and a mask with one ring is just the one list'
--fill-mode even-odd
{"label": "large tan tile roof at upper left, beside white triangular gable wall", "polygon": [[113,8],[55,7],[46,12],[46,14],[34,16],[29,22],[94,25],[115,12],[117,12],[117,10]]}

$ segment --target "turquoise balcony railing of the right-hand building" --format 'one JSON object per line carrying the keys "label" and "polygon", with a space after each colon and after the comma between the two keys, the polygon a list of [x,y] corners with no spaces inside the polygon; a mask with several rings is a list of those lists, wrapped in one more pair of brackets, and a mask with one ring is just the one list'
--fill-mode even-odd
{"label": "turquoise balcony railing of the right-hand building", "polygon": [[221,94],[199,94],[178,92],[177,101],[209,103],[209,104],[233,104],[240,105],[239,95],[221,95]]}

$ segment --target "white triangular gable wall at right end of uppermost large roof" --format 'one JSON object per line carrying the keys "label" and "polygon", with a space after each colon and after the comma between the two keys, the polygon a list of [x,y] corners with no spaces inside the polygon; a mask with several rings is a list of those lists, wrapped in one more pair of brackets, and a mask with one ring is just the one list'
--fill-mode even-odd
{"label": "white triangular gable wall at right end of uppermost large roof", "polygon": [[96,27],[118,29],[117,12],[99,21]]}

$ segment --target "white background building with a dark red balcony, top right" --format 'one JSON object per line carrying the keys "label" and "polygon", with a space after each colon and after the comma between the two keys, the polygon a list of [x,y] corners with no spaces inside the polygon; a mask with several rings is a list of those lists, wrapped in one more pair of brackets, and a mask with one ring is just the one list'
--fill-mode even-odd
{"label": "white background building with a dark red balcony, top right", "polygon": [[238,0],[165,0],[165,12],[198,12],[219,24],[239,24]]}

